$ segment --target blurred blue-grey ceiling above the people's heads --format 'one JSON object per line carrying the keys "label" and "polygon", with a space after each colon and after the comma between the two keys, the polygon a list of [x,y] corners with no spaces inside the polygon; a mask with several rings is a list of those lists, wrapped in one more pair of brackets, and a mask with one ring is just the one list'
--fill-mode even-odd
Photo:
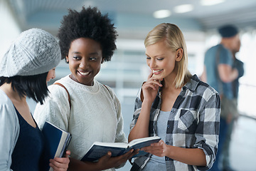
{"label": "blurred blue-grey ceiling above the people's heads", "polygon": [[[223,24],[240,28],[256,28],[255,0],[226,0],[213,6],[201,6],[201,0],[6,0],[9,1],[21,30],[40,27],[55,34],[68,9],[80,11],[81,6],[97,6],[108,13],[123,38],[141,38],[157,24],[170,22],[183,31],[209,31]],[[211,0],[217,1],[217,0]],[[176,14],[174,7],[193,4],[188,13]],[[154,19],[153,12],[169,9],[165,19]]]}

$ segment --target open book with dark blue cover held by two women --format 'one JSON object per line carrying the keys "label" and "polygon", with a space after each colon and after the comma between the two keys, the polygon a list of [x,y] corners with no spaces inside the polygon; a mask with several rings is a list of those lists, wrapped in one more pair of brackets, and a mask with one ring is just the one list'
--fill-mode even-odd
{"label": "open book with dark blue cover held by two women", "polygon": [[[112,157],[123,155],[131,149],[137,150],[142,147],[150,146],[151,143],[159,142],[161,138],[159,137],[148,137],[148,138],[139,138],[132,140],[129,143],[125,142],[94,142],[90,147],[90,150],[82,157],[81,161],[95,161],[100,159],[103,155],[106,155],[107,152],[112,152]],[[144,151],[139,151],[139,154],[134,157],[139,157],[146,155]]]}

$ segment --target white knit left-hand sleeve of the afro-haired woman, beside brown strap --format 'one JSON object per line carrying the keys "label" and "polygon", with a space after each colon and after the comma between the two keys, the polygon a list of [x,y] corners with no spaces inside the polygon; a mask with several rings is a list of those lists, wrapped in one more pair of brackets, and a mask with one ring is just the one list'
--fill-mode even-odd
{"label": "white knit left-hand sleeve of the afro-haired woman, beside brown strap", "polygon": [[68,120],[70,118],[70,105],[68,102],[68,93],[58,85],[48,87],[50,93],[43,105],[36,105],[33,117],[40,129],[48,121],[53,125],[68,131]]}

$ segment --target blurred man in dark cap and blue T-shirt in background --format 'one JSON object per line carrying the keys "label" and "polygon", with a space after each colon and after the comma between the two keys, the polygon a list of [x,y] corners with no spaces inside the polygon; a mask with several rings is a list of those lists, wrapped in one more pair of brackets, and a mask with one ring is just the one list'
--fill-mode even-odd
{"label": "blurred man in dark cap and blue T-shirt in background", "polygon": [[[228,127],[231,120],[237,118],[237,105],[230,105],[226,102],[233,101],[233,81],[238,79],[240,73],[237,68],[233,68],[234,60],[232,52],[240,47],[240,37],[238,28],[232,25],[222,26],[218,29],[221,41],[206,51],[202,81],[206,81],[210,86],[220,93],[221,113],[220,113],[220,134],[218,152],[215,163],[210,170],[220,170],[220,156],[223,153],[223,145],[227,136]],[[239,50],[238,50],[239,51]],[[231,107],[231,108],[230,108]]]}

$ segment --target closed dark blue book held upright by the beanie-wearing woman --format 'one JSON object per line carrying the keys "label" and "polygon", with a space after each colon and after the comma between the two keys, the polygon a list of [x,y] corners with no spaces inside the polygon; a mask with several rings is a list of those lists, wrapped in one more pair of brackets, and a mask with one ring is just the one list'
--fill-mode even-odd
{"label": "closed dark blue book held upright by the beanie-wearing woman", "polygon": [[[70,142],[71,134],[47,121],[43,125],[42,133],[46,141],[46,160],[63,157]],[[53,170],[51,167],[49,169]]]}

